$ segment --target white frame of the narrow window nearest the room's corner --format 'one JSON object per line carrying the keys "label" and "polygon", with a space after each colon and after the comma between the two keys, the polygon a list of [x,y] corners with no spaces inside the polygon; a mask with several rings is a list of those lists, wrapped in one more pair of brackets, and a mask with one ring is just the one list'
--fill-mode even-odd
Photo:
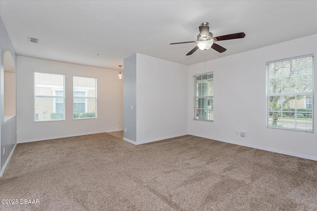
{"label": "white frame of the narrow window nearest the room's corner", "polygon": [[[212,98],[213,101],[213,92],[212,95],[204,95],[204,96],[197,96],[197,87],[196,87],[196,83],[197,83],[197,77],[200,76],[208,76],[210,75],[211,79],[212,79],[212,90],[213,90],[213,72],[208,72],[208,73],[203,73],[203,74],[198,74],[198,75],[194,75],[193,76],[193,91],[194,91],[194,97],[193,97],[193,106],[194,106],[194,115],[193,115],[193,120],[196,121],[205,121],[205,122],[213,122],[213,102],[212,105],[208,106],[208,99]],[[208,86],[207,86],[208,89]],[[208,92],[208,90],[207,90]],[[197,117],[197,99],[207,99],[207,109],[211,109],[212,111],[205,111],[208,112],[207,114],[207,119],[199,119],[199,117]],[[210,108],[209,108],[210,107]]]}

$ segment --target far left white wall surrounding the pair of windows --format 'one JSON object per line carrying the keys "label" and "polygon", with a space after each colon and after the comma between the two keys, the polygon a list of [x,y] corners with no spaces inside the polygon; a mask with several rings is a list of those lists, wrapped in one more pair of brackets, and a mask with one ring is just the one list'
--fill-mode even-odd
{"label": "far left white wall surrounding the pair of windows", "polygon": [[[34,123],[34,71],[65,75],[65,121]],[[117,79],[118,71],[17,56],[16,73],[18,143],[123,129],[123,82]],[[73,75],[97,78],[97,119],[73,120]]]}

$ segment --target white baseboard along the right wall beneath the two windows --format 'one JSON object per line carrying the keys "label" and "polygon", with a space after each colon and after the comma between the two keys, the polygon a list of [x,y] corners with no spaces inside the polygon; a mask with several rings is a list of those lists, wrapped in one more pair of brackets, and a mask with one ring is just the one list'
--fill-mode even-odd
{"label": "white baseboard along the right wall beneath the two windows", "polygon": [[239,142],[235,142],[235,141],[229,141],[229,140],[225,140],[225,139],[221,139],[221,138],[213,138],[211,136],[198,135],[198,134],[194,134],[194,133],[189,133],[189,135],[194,135],[194,136],[198,136],[198,137],[202,137],[202,138],[212,139],[215,141],[226,142],[229,144],[235,144],[235,145],[250,147],[250,148],[254,148],[254,149],[260,149],[260,150],[264,150],[264,151],[268,151],[268,152],[275,152],[275,153],[279,153],[279,154],[283,154],[283,155],[289,155],[289,156],[294,156],[294,157],[305,158],[308,160],[317,161],[317,157],[307,156],[307,155],[303,155],[303,154],[280,151],[280,150],[275,150],[275,149],[271,149],[271,148],[267,148],[267,147],[255,146],[252,144],[243,144],[243,143],[239,143]]}

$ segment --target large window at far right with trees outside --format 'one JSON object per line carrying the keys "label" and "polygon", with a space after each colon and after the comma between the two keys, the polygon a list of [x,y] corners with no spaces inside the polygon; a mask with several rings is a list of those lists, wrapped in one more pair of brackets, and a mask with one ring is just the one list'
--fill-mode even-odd
{"label": "large window at far right with trees outside", "polygon": [[314,131],[313,58],[266,62],[266,127]]}

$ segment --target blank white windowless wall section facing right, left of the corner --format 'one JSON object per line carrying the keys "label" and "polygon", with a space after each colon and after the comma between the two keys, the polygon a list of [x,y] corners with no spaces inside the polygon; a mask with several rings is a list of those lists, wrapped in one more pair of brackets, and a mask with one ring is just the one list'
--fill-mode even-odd
{"label": "blank white windowless wall section facing right, left of the corner", "polygon": [[187,65],[137,53],[138,143],[187,134],[187,75]]}

